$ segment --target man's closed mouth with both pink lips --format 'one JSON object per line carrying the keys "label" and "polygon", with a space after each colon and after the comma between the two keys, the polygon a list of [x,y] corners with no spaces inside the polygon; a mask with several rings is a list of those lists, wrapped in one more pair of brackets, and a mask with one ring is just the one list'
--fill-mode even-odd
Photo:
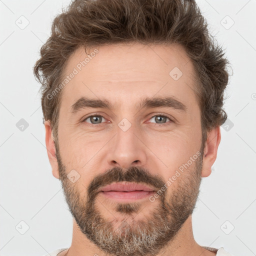
{"label": "man's closed mouth with both pink lips", "polygon": [[103,196],[119,201],[147,198],[154,192],[155,190],[147,185],[127,182],[112,183],[100,189]]}

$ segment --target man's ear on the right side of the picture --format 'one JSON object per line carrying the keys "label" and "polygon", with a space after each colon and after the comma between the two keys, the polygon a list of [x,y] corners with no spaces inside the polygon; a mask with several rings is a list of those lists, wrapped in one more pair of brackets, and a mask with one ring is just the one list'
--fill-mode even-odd
{"label": "man's ear on the right side of the picture", "polygon": [[207,134],[207,141],[203,150],[202,171],[201,176],[207,177],[211,173],[211,166],[217,157],[218,145],[220,142],[220,126],[210,130]]}

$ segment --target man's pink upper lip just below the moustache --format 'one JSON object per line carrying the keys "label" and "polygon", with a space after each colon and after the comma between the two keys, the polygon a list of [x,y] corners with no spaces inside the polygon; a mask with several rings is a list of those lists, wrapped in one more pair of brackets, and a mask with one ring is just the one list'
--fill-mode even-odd
{"label": "man's pink upper lip just below the moustache", "polygon": [[100,191],[107,192],[107,191],[154,191],[151,187],[140,184],[140,183],[128,183],[128,182],[121,182],[121,183],[111,183],[109,185],[105,185],[103,188],[100,189]]}

